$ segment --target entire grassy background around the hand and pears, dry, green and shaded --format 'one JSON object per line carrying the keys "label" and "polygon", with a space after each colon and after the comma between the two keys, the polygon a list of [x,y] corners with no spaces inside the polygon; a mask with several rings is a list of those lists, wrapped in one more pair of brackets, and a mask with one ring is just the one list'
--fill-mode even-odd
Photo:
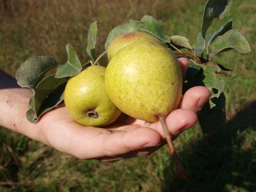
{"label": "entire grassy background around the hand and pears, dry, green and shaded", "polygon": [[[0,68],[15,76],[31,56],[49,55],[65,63],[70,43],[82,63],[90,24],[98,20],[97,50],[103,52],[110,30],[149,14],[165,34],[181,35],[196,45],[205,1],[0,1]],[[167,146],[150,156],[115,163],[81,160],[24,135],[0,129],[0,191],[256,191],[256,5],[233,1],[224,21],[249,41],[252,52],[235,50],[214,61],[236,70],[225,77],[227,123],[209,135],[200,127],[174,141],[187,181],[176,180]],[[101,60],[106,62],[106,60]]]}

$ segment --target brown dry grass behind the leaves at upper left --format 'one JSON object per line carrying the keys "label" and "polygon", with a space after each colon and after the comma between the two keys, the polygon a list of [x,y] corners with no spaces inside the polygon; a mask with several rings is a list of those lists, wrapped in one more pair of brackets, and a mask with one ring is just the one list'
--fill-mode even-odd
{"label": "brown dry grass behind the leaves at upper left", "polygon": [[[27,58],[48,55],[60,63],[67,60],[65,46],[70,43],[79,59],[86,60],[90,24],[99,21],[97,50],[103,52],[112,28],[140,20],[149,14],[159,18],[164,6],[174,10],[176,3],[164,1],[1,1],[2,49],[5,71],[15,71]],[[10,22],[11,21],[11,22]]]}

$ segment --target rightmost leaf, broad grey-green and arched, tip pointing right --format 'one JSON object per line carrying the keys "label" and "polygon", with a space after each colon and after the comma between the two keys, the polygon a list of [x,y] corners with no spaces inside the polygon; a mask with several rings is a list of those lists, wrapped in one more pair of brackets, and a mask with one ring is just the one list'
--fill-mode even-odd
{"label": "rightmost leaf, broad grey-green and arched, tip pointing right", "polygon": [[250,45],[243,35],[235,30],[229,30],[216,40],[212,48],[212,53],[209,55],[212,57],[218,53],[225,52],[230,49],[236,49],[241,53],[251,51]]}

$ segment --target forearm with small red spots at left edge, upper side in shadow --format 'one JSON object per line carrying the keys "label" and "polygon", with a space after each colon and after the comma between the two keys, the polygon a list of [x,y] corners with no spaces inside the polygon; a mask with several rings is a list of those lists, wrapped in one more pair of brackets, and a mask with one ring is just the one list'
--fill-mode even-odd
{"label": "forearm with small red spots at left edge, upper side in shadow", "polygon": [[0,125],[20,133],[32,126],[26,118],[32,94],[32,90],[21,88],[15,78],[0,70]]}

